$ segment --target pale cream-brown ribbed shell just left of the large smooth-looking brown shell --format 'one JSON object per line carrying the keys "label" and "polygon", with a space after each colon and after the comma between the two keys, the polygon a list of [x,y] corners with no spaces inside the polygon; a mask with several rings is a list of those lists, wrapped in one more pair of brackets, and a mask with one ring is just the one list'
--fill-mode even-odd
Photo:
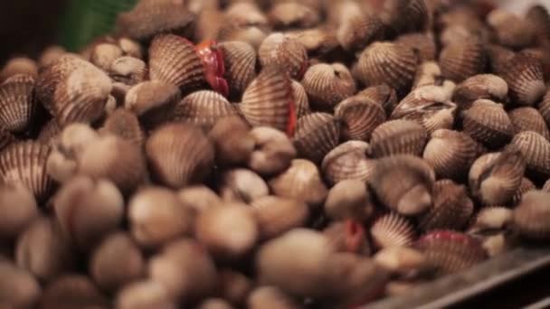
{"label": "pale cream-brown ribbed shell just left of the large smooth-looking brown shell", "polygon": [[321,170],[331,185],[348,179],[368,183],[375,171],[375,160],[366,156],[369,145],[361,141],[349,141],[330,151],[321,164]]}

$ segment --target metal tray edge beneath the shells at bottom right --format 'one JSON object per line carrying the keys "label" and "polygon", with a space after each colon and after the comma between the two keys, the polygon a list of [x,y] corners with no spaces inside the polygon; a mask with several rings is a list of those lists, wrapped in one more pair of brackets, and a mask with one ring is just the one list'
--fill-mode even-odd
{"label": "metal tray edge beneath the shells at bottom right", "polygon": [[418,286],[406,295],[386,298],[364,309],[444,308],[550,266],[550,247],[521,247],[493,257],[460,274]]}

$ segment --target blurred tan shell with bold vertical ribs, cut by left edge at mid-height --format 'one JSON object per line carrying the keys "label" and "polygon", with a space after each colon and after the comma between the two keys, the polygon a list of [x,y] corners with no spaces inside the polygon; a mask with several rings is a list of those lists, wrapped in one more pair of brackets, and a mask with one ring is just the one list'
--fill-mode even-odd
{"label": "blurred tan shell with bold vertical ribs, cut by left edge at mid-height", "polygon": [[38,201],[45,201],[53,186],[46,173],[50,147],[38,142],[9,145],[0,153],[0,182],[21,183],[29,188]]}

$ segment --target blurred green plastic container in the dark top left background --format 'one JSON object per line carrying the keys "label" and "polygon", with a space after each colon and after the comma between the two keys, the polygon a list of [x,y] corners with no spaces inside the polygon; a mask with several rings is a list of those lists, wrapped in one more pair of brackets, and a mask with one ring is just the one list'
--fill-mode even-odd
{"label": "blurred green plastic container in the dark top left background", "polygon": [[76,52],[101,34],[113,30],[117,15],[137,0],[71,0],[62,23],[61,44]]}

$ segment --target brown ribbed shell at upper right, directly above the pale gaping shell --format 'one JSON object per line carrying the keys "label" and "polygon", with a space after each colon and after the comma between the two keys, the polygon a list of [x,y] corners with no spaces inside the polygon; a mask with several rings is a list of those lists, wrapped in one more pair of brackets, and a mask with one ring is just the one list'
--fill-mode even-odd
{"label": "brown ribbed shell at upper right, directly above the pale gaping shell", "polygon": [[483,42],[476,37],[453,42],[440,54],[441,73],[448,80],[460,82],[485,70],[487,61]]}

